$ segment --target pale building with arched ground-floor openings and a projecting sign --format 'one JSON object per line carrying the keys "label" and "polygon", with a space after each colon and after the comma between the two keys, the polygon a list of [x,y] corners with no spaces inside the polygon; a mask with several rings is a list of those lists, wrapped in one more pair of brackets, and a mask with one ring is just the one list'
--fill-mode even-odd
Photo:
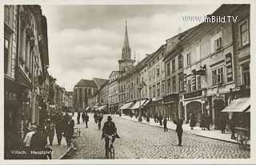
{"label": "pale building with arched ground-floor openings and a projecting sign", "polygon": [[[240,7],[223,5],[212,15],[230,15]],[[213,127],[219,128],[222,109],[229,103],[230,89],[236,88],[235,75],[239,74],[234,63],[237,61],[234,56],[234,27],[232,22],[202,23],[178,43],[184,59],[185,91],[180,96],[179,112],[186,121],[190,113],[200,121],[202,113],[206,112]]]}

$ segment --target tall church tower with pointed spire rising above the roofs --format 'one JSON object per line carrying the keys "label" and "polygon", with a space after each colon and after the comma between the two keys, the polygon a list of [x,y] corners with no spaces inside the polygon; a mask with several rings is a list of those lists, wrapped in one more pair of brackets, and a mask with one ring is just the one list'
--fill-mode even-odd
{"label": "tall church tower with pointed spire rising above the roofs", "polygon": [[126,71],[130,66],[134,65],[134,60],[131,59],[130,53],[130,46],[129,46],[129,39],[128,39],[128,32],[127,32],[127,22],[126,22],[126,33],[125,33],[125,40],[122,47],[122,58],[118,60],[119,63],[119,71]]}

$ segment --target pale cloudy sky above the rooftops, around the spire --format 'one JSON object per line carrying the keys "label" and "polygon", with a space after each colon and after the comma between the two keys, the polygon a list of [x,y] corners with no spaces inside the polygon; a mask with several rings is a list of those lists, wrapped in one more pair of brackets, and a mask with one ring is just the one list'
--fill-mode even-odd
{"label": "pale cloudy sky above the rooftops, around the spire", "polygon": [[126,20],[132,57],[135,52],[141,61],[166,39],[198,24],[182,22],[182,16],[206,16],[218,6],[42,6],[50,74],[68,91],[82,78],[108,79],[118,70]]}

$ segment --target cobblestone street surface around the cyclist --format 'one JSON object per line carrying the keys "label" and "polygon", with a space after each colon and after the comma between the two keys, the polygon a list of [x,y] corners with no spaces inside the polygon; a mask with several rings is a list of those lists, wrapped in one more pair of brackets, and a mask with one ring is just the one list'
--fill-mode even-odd
{"label": "cobblestone street surface around the cyclist", "polygon": [[[76,120],[75,120],[76,121]],[[102,124],[106,121],[106,116]],[[113,117],[121,139],[114,142],[116,159],[228,159],[250,158],[250,151],[242,150],[235,143],[208,139],[183,133],[182,147],[177,147],[176,132],[164,132],[162,128]],[[84,124],[82,136],[74,139],[77,150],[64,159],[103,159],[104,140],[90,114],[89,128]]]}

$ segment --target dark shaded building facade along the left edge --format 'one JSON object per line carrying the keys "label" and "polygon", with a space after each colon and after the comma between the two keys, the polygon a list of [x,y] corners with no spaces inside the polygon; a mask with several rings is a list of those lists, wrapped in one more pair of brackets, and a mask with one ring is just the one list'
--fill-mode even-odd
{"label": "dark shaded building facade along the left edge", "polygon": [[[40,6],[4,6],[4,12],[5,136],[15,135],[16,143],[25,136],[27,120],[42,124],[47,26]],[[5,139],[5,147],[10,147],[12,139]]]}

